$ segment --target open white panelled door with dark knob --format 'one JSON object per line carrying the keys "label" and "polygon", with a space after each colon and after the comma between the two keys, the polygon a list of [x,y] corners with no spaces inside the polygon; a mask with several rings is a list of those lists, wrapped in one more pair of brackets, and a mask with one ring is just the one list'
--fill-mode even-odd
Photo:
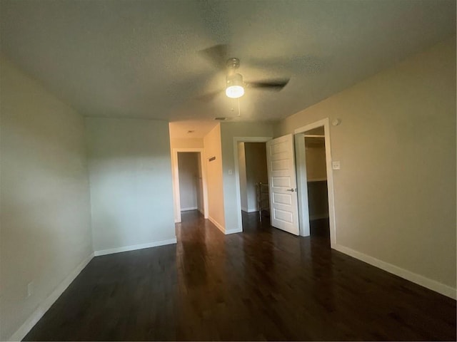
{"label": "open white panelled door with dark knob", "polygon": [[293,136],[266,142],[270,217],[273,227],[298,235],[298,199]]}

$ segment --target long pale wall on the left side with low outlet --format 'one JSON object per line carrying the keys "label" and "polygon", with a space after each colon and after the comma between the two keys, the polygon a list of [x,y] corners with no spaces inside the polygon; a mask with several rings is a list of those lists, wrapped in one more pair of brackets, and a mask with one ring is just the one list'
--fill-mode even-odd
{"label": "long pale wall on the left side with low outlet", "polygon": [[84,118],[6,59],[0,65],[0,340],[6,341],[24,337],[52,304],[51,294],[90,260],[92,236]]}

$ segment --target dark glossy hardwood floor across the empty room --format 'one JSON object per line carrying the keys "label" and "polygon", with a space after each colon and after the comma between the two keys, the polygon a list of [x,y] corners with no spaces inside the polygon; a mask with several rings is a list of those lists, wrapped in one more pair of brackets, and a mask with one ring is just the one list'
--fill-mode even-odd
{"label": "dark glossy hardwood floor across the empty room", "polygon": [[243,229],[186,212],[176,245],[95,257],[25,340],[456,341],[456,301],[331,250],[328,234],[255,213]]}

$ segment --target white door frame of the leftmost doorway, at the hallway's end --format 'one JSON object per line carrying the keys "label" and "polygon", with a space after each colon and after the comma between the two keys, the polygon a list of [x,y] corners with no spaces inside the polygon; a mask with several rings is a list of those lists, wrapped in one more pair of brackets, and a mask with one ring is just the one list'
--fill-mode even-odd
{"label": "white door frame of the leftmost doorway, at the hallway's end", "polygon": [[203,187],[203,212],[205,219],[208,218],[208,186],[206,183],[206,162],[204,148],[174,148],[172,159],[173,193],[174,193],[174,222],[181,222],[181,196],[179,194],[179,165],[178,152],[197,152],[200,154],[201,185]]}

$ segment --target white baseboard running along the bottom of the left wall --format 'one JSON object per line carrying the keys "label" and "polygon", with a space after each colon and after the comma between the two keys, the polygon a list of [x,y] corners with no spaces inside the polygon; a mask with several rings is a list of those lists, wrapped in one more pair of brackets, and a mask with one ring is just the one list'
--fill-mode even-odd
{"label": "white baseboard running along the bottom of the left wall", "polygon": [[78,276],[78,274],[81,273],[81,271],[84,269],[84,267],[89,264],[89,261],[94,257],[94,253],[91,253],[89,257],[86,257],[83,261],[81,261],[81,264],[76,266],[76,268],[71,271],[71,273],[66,276],[66,278],[52,291],[52,293],[46,298],[41,304],[39,304],[38,308],[29,316],[29,318],[26,319],[24,324],[21,325],[21,327],[8,339],[8,341],[21,341],[29,331],[31,331],[31,328],[35,326],[36,323],[40,320],[41,317],[43,317],[44,314],[46,314],[46,311],[49,310],[49,308],[54,304],[54,302],[59,298],[61,294],[64,293],[67,287],[71,284],[72,281]]}

